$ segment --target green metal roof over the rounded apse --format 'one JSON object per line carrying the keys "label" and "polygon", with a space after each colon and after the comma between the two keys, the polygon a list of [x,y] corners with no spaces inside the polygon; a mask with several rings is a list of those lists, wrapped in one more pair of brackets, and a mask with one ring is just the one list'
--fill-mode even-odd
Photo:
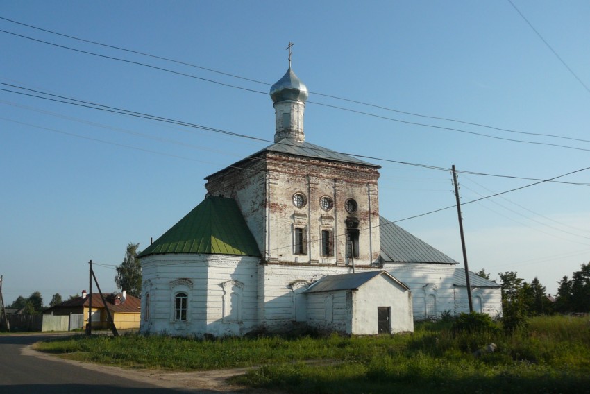
{"label": "green metal roof over the rounded apse", "polygon": [[233,198],[206,197],[138,257],[165,253],[260,256]]}

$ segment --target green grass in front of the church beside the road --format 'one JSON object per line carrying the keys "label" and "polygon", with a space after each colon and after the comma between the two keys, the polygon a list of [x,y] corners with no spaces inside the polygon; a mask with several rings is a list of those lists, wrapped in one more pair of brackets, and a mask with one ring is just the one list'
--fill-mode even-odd
{"label": "green grass in front of the church beside the road", "polygon": [[[488,343],[498,350],[474,357]],[[235,383],[291,393],[582,393],[590,386],[587,318],[531,318],[527,332],[453,333],[418,323],[413,334],[327,338],[195,339],[75,336],[37,345],[83,361],[130,368],[260,366]],[[305,361],[323,360],[320,363]]]}

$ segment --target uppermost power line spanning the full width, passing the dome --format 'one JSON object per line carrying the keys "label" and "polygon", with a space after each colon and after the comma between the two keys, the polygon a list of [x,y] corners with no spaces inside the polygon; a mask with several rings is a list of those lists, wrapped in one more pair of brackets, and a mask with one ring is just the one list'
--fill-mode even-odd
{"label": "uppermost power line spanning the full width, passing the dome", "polygon": [[[96,42],[96,41],[92,41],[92,40],[85,40],[83,38],[75,37],[73,35],[67,35],[67,34],[63,34],[63,33],[58,33],[56,31],[51,31],[51,30],[48,30],[48,29],[45,29],[45,28],[40,28],[40,27],[33,26],[33,25],[30,25],[30,24],[24,24],[22,22],[17,22],[17,21],[15,21],[13,19],[8,19],[8,18],[4,18],[4,17],[0,17],[0,19],[3,19],[3,20],[8,21],[8,22],[12,22],[14,24],[19,24],[19,25],[22,25],[22,26],[26,26],[28,28],[33,28],[33,29],[36,29],[38,31],[44,31],[46,33],[51,33],[51,34],[54,34],[54,35],[60,35],[62,37],[67,37],[67,38],[70,38],[71,40],[78,40],[78,41],[81,41],[81,42],[87,42],[89,44],[104,46],[104,47],[110,48],[110,49],[117,49],[119,51],[125,51],[125,52],[128,52],[128,53],[135,53],[137,55],[143,55],[143,56],[146,56],[146,57],[149,57],[149,58],[158,59],[158,60],[166,60],[168,62],[174,62],[174,63],[177,63],[179,65],[185,65],[185,66],[189,66],[189,67],[194,67],[196,69],[202,69],[202,70],[205,70],[205,71],[210,71],[212,73],[221,74],[221,75],[224,75],[224,76],[230,76],[232,78],[238,78],[238,79],[242,79],[242,80],[247,80],[247,81],[253,82],[253,83],[259,83],[259,84],[267,85],[267,86],[271,86],[272,85],[271,83],[263,82],[263,81],[260,81],[260,80],[255,80],[255,79],[252,79],[252,78],[246,78],[246,77],[243,77],[243,76],[238,76],[236,74],[230,74],[230,73],[227,73],[227,72],[224,72],[224,71],[219,71],[219,70],[212,69],[212,68],[209,68],[209,67],[203,67],[203,66],[199,66],[199,65],[194,65],[193,63],[189,63],[189,62],[183,62],[183,61],[180,61],[180,60],[175,60],[175,59],[171,59],[171,58],[165,58],[163,56],[153,55],[151,53],[146,53],[146,52],[142,52],[142,51],[135,51],[133,49],[126,49],[126,48],[122,48],[121,46],[114,46],[114,45],[103,44],[101,42]],[[22,36],[22,37],[24,37],[24,36]],[[541,137],[553,137],[553,138],[560,138],[560,139],[570,139],[570,140],[579,141],[579,142],[590,142],[590,140],[587,140],[587,139],[579,139],[579,138],[573,138],[573,137],[564,137],[562,135],[551,135],[551,134],[543,134],[543,133],[537,133],[537,132],[523,132],[523,131],[519,131],[519,130],[511,130],[511,129],[507,129],[507,128],[500,128],[500,127],[496,127],[496,126],[489,126],[489,125],[485,125],[483,123],[474,123],[474,122],[469,122],[469,121],[461,121],[461,120],[458,120],[458,119],[451,119],[451,118],[446,118],[446,117],[435,117],[435,116],[432,116],[432,115],[419,114],[419,113],[416,113],[416,112],[408,112],[408,111],[403,111],[403,110],[396,110],[394,108],[388,108],[388,107],[385,107],[385,106],[382,106],[382,105],[377,105],[377,104],[372,104],[372,103],[366,103],[364,101],[359,101],[359,100],[346,99],[344,97],[339,97],[339,96],[335,96],[335,95],[332,95],[332,94],[324,94],[324,93],[313,92],[313,91],[310,91],[310,94],[316,94],[317,96],[328,97],[330,99],[337,99],[337,100],[341,100],[341,101],[347,101],[349,103],[366,105],[366,106],[369,106],[369,107],[372,107],[372,108],[378,108],[380,110],[386,110],[386,111],[390,111],[390,112],[397,112],[397,113],[400,113],[400,114],[411,115],[411,116],[414,116],[414,117],[423,117],[423,118],[426,118],[426,119],[437,119],[437,120],[441,120],[441,121],[450,121],[450,122],[455,122],[455,123],[466,124],[466,125],[469,125],[469,126],[478,126],[478,127],[482,127],[482,128],[489,128],[489,129],[492,129],[492,130],[505,131],[505,132],[514,132],[514,133],[523,134],[523,135],[537,135],[537,136],[541,136]],[[313,103],[313,102],[311,102],[311,103]],[[321,103],[314,103],[314,104],[321,105]],[[338,109],[347,110],[346,108],[338,108]],[[420,124],[420,123],[418,123],[418,124]]]}

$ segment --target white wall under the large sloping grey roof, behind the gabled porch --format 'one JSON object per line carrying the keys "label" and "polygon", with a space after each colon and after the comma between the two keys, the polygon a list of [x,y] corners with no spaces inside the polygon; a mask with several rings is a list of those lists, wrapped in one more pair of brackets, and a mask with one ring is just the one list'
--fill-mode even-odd
{"label": "white wall under the large sloping grey roof, behind the gabled porch", "polygon": [[412,290],[414,320],[426,318],[425,286],[429,284],[436,286],[437,316],[443,311],[455,311],[455,264],[386,263],[383,269]]}

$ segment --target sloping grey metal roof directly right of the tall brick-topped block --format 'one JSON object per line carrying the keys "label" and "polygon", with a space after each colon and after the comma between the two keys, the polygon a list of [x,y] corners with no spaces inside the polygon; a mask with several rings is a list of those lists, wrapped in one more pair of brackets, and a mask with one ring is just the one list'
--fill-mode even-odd
{"label": "sloping grey metal roof directly right of the tall brick-topped block", "polygon": [[381,257],[385,262],[459,264],[382,216],[379,225]]}

